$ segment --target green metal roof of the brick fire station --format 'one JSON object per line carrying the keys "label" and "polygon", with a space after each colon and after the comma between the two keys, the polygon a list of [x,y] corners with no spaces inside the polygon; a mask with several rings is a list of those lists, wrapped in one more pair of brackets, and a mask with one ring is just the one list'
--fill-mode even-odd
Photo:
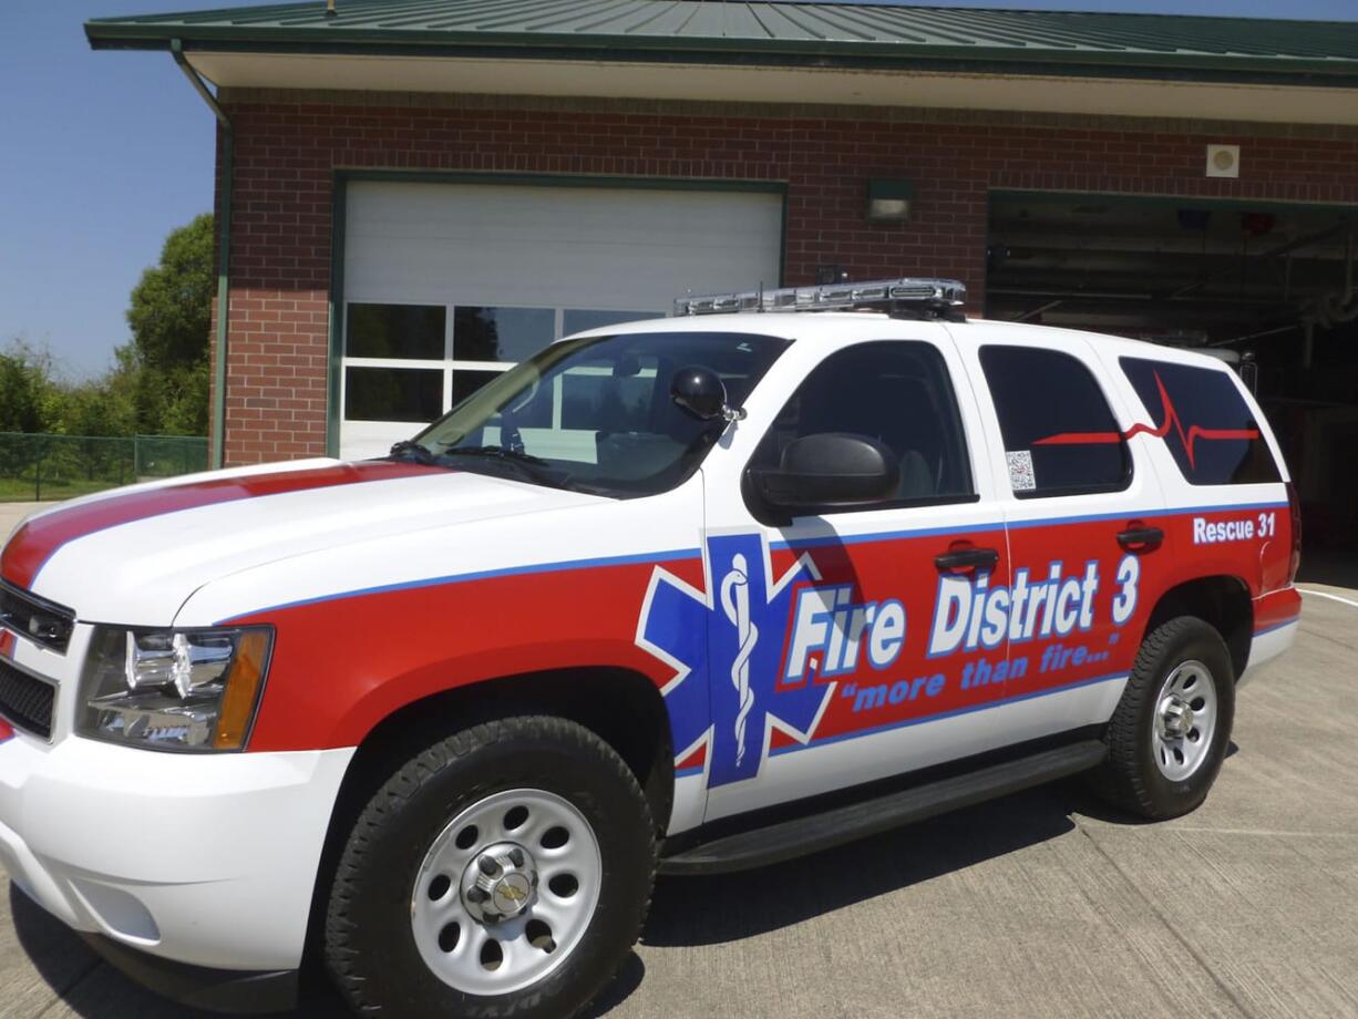
{"label": "green metal roof of the brick fire station", "polygon": [[1354,84],[1358,23],[714,0],[323,0],[100,18],[96,49],[913,67]]}

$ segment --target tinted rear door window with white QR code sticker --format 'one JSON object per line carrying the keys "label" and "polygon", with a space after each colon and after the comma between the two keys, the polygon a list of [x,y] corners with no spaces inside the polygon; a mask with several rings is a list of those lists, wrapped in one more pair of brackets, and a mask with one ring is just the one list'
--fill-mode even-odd
{"label": "tinted rear door window with white QR code sticker", "polygon": [[980,367],[1019,499],[1127,486],[1127,440],[1084,363],[1036,346],[982,346]]}

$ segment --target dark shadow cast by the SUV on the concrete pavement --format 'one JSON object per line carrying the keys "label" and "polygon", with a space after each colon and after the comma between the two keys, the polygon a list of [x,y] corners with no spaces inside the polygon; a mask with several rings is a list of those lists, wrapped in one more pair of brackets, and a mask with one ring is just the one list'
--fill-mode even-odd
{"label": "dark shadow cast by the SUV on the concrete pavement", "polygon": [[[682,948],[790,927],[1067,834],[1076,827],[1070,819],[1073,811],[1115,823],[1137,822],[1097,804],[1080,781],[1070,780],[771,867],[710,878],[661,878],[642,942],[657,948]],[[744,908],[732,909],[732,902]],[[99,963],[77,935],[18,889],[11,887],[10,905],[20,946],[69,1012],[84,1019],[210,1015],[175,1005]],[[607,1015],[644,978],[645,963],[633,952],[585,1015]],[[289,1015],[320,1019],[346,1014],[337,993],[327,986],[312,986],[307,1003]]]}

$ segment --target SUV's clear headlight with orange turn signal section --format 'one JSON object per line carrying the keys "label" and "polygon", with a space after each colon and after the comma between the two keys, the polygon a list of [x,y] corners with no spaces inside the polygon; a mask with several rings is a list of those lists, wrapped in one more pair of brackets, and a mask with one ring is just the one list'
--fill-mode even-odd
{"label": "SUV's clear headlight with orange turn signal section", "polygon": [[76,732],[158,750],[240,750],[269,667],[273,630],[100,626],[80,678]]}

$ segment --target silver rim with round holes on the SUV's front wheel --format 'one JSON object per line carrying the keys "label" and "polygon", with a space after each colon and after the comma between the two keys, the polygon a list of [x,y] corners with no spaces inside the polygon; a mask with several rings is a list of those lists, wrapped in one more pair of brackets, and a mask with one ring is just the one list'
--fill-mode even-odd
{"label": "silver rim with round holes on the SUV's front wheel", "polygon": [[519,990],[584,937],[602,878],[599,841],[569,800],[497,792],[458,814],[425,855],[410,897],[416,947],[463,993]]}

